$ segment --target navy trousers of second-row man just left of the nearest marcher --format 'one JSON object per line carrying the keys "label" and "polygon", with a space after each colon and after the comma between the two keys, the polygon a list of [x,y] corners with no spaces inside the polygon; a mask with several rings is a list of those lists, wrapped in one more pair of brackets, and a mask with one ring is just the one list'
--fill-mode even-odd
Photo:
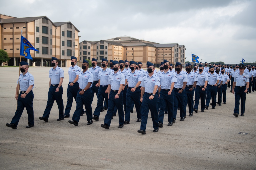
{"label": "navy trousers of second-row man just left of the nearest marcher", "polygon": [[132,88],[128,87],[126,91],[126,110],[125,119],[130,122],[130,110],[132,108],[132,101],[135,104],[137,119],[141,119],[141,103],[140,103],[140,89],[136,88],[134,92],[131,91]]}

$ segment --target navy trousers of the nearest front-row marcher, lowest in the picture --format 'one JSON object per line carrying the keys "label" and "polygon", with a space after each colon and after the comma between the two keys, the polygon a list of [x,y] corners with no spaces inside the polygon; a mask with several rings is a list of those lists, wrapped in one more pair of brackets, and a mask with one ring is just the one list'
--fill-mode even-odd
{"label": "navy trousers of the nearest front-row marcher, lowest in the picture", "polygon": [[149,96],[151,96],[148,93],[144,93],[143,100],[141,104],[141,130],[146,130],[147,125],[147,117],[148,112],[150,110],[151,116],[152,116],[152,122],[153,122],[153,128],[157,129],[159,127],[158,125],[158,95],[155,95],[152,100],[149,99]]}

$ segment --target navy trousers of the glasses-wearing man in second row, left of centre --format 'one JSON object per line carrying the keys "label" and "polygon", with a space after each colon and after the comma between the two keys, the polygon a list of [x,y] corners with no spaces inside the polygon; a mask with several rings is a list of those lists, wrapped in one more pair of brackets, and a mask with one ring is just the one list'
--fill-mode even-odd
{"label": "navy trousers of the glasses-wearing man in second row, left of centre", "polygon": [[100,116],[100,110],[101,110],[101,107],[102,107],[102,104],[103,104],[103,100],[105,99],[105,102],[106,102],[106,105],[108,106],[108,96],[109,94],[108,93],[105,93],[106,89],[108,88],[108,85],[106,86],[100,86],[99,90],[98,90],[98,101],[97,101],[97,106],[93,112],[93,115],[94,116]]}

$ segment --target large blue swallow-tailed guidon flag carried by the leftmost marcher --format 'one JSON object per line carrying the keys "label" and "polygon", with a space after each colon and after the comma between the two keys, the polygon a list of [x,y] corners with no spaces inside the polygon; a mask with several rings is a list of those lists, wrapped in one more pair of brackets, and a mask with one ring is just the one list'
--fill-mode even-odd
{"label": "large blue swallow-tailed guidon flag carried by the leftmost marcher", "polygon": [[29,50],[38,51],[37,49],[35,49],[33,47],[33,45],[30,44],[30,42],[24,36],[21,36],[20,37],[20,53],[19,53],[19,55],[20,56],[25,56],[25,58],[33,60],[31,55],[30,55]]}

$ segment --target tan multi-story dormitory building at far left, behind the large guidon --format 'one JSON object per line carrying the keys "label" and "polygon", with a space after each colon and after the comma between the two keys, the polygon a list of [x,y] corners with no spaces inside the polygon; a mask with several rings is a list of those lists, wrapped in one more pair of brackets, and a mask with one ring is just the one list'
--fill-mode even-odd
{"label": "tan multi-story dormitory building at far left, behind the large guidon", "polygon": [[59,59],[59,66],[69,67],[70,56],[78,58],[80,32],[71,22],[52,22],[46,16],[16,18],[0,14],[0,49],[10,60],[9,66],[18,66],[20,58],[20,35],[40,51],[30,50],[33,61],[22,56],[30,66],[50,66],[51,57]]}

